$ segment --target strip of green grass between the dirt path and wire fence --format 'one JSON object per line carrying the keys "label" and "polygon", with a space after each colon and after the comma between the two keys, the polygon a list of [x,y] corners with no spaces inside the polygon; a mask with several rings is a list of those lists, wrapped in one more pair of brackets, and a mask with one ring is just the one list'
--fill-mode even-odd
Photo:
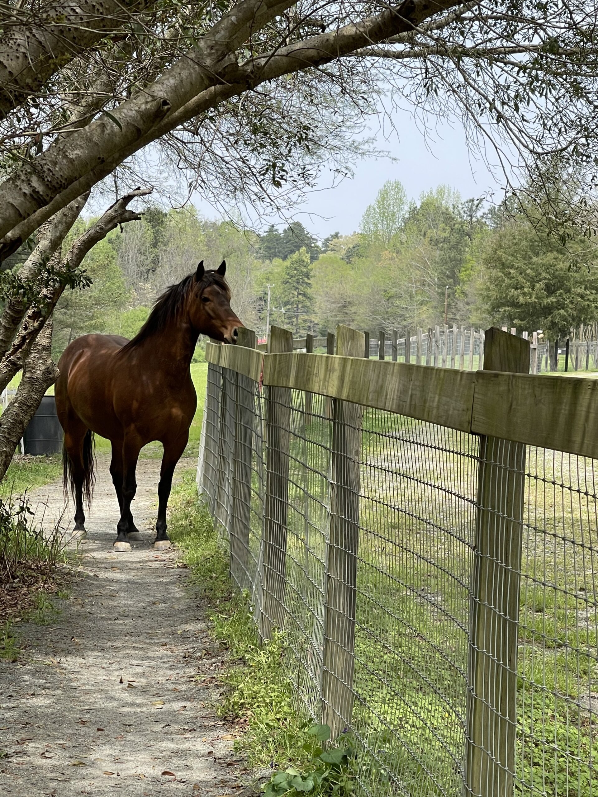
{"label": "strip of green grass between the dirt path and wire fence", "polygon": [[195,590],[209,602],[211,633],[229,649],[222,677],[227,689],[218,713],[245,725],[236,747],[252,767],[305,760],[302,746],[311,723],[297,710],[284,665],[285,640],[274,635],[260,646],[246,596],[232,591],[228,557],[197,496],[194,470],[173,489],[168,534],[191,568]]}

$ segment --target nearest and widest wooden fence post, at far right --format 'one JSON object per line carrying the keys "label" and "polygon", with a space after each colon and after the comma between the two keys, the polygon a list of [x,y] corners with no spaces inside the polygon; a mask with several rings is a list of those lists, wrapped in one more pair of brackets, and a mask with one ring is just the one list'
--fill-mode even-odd
{"label": "nearest and widest wooden fence post, at far right", "polygon": [[[529,373],[529,342],[489,329],[486,371]],[[480,437],[470,595],[465,791],[512,797],[525,445]]]}

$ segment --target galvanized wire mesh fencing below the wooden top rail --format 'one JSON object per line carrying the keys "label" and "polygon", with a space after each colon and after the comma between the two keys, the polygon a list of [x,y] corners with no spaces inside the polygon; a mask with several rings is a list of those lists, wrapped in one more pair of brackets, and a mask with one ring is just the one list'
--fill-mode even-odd
{"label": "galvanized wire mesh fencing below the wooden top rail", "polygon": [[210,364],[199,488],[364,795],[598,795],[596,462]]}

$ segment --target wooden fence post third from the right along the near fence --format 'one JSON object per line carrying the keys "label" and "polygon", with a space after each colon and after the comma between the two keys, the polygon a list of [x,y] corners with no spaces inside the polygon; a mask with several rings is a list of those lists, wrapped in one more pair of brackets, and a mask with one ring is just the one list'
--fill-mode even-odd
{"label": "wooden fence post third from the right along the near fence", "polygon": [[[270,327],[269,354],[293,351],[293,334]],[[286,532],[289,513],[289,430],[291,391],[269,387],[266,392],[266,502],[262,563],[260,636],[269,639],[285,616]]]}

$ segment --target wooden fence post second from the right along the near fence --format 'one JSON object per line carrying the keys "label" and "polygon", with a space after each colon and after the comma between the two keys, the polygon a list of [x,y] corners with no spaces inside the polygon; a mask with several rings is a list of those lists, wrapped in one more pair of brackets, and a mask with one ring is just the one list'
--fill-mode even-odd
{"label": "wooden fence post second from the right along the near fence", "polygon": [[[337,354],[359,357],[364,335],[337,328]],[[332,738],[351,723],[355,669],[360,442],[363,408],[333,399],[329,537],[326,544],[322,722]]]}

